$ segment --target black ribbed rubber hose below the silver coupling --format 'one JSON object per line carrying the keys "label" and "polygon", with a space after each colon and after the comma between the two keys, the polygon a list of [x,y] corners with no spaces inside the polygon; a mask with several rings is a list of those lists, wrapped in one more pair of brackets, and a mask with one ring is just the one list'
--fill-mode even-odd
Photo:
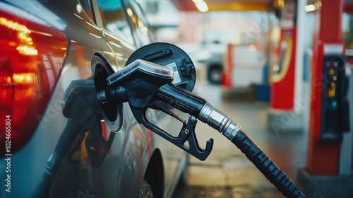
{"label": "black ribbed rubber hose below the silver coupling", "polygon": [[304,198],[305,195],[299,190],[297,185],[283,173],[270,158],[256,146],[249,137],[241,130],[232,139],[232,143],[265,175],[265,177],[282,192],[285,197]]}

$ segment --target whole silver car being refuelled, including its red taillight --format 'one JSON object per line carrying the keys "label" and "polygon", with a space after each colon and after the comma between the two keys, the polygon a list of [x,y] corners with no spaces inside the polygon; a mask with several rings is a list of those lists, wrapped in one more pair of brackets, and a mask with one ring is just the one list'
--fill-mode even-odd
{"label": "whole silver car being refuelled, including its red taillight", "polygon": [[1,197],[172,197],[187,153],[92,91],[155,42],[136,0],[0,1],[0,35]]}

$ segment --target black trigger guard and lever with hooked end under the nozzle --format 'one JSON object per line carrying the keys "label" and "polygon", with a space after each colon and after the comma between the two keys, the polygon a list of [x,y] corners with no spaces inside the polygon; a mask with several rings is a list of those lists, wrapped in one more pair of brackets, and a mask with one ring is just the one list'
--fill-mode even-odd
{"label": "black trigger guard and lever with hooked end under the nozzle", "polygon": [[[191,115],[189,117],[189,121],[186,122],[185,120],[181,119],[181,117],[175,115],[173,112],[167,110],[164,107],[160,107],[156,105],[152,105],[150,107],[152,107],[153,109],[161,110],[162,112],[165,112],[168,115],[175,117],[177,120],[183,122],[183,127],[179,132],[179,136],[172,136],[171,134],[165,132],[163,129],[160,129],[160,127],[157,127],[155,124],[152,124],[151,122],[149,122],[144,115],[141,121],[145,127],[152,130],[152,132],[155,132],[156,134],[162,136],[167,141],[172,142],[172,144],[178,146],[184,151],[190,153],[192,156],[198,158],[199,160],[205,161],[205,159],[210,155],[210,152],[212,151],[213,139],[211,138],[208,141],[206,141],[205,149],[199,146],[198,140],[195,134],[195,127],[198,121],[196,117]],[[186,141],[189,142],[189,146],[185,145]]]}

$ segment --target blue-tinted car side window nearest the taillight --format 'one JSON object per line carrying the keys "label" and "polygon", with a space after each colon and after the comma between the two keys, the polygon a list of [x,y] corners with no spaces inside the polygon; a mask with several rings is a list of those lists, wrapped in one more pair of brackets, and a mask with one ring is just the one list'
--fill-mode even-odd
{"label": "blue-tinted car side window nearest the taillight", "polygon": [[104,29],[121,38],[131,45],[135,45],[131,28],[124,13],[124,7],[120,0],[97,0],[101,13]]}

